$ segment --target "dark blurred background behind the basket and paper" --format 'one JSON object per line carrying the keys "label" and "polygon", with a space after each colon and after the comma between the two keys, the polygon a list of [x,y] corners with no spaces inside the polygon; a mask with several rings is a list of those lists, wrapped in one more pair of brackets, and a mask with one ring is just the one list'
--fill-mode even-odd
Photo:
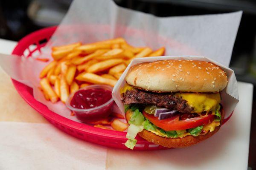
{"label": "dark blurred background behind the basket and paper", "polygon": [[[256,85],[256,0],[114,0],[116,4],[160,17],[243,11],[230,63],[239,81]],[[0,38],[18,41],[26,34],[58,25],[72,0],[0,0]],[[253,112],[256,111],[256,92]],[[241,113],[242,114],[242,113]],[[249,169],[256,169],[256,115],[252,116]],[[239,146],[238,146],[239,147]]]}

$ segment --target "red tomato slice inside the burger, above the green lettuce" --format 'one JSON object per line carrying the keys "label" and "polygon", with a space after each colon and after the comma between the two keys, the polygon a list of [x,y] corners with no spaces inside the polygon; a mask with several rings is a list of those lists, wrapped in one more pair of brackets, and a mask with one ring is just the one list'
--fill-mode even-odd
{"label": "red tomato slice inside the burger, above the green lettuce", "polygon": [[155,117],[152,114],[145,113],[144,111],[143,111],[143,115],[151,123],[167,131],[190,129],[190,128],[198,127],[201,125],[207,125],[214,120],[214,115],[212,114],[209,114],[206,116],[198,116],[198,117],[185,119],[185,120],[179,120],[179,117],[180,117],[179,115],[175,115],[169,119],[163,119],[163,120],[158,120],[158,117]]}

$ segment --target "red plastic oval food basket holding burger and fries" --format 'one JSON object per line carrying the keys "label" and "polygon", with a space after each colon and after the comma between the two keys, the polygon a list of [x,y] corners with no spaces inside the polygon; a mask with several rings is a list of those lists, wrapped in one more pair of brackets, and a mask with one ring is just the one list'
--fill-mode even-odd
{"label": "red plastic oval food basket holding burger and fries", "polygon": [[[26,37],[23,37],[23,39],[18,42],[12,54],[16,54],[19,56],[24,55],[26,57],[29,57],[34,52],[40,51],[40,49],[44,47],[44,45],[46,45],[46,42],[50,39],[56,28],[57,27],[44,28],[35,31],[27,35]],[[31,45],[35,45],[36,47],[33,47],[33,50],[31,50]],[[27,52],[26,55],[24,54],[25,51]],[[58,127],[58,129],[88,142],[101,144],[108,147],[128,149],[124,145],[127,140],[125,138],[125,132],[100,129],[83,123],[75,122],[63,116],[60,116],[57,113],[50,111],[47,106],[35,100],[35,98],[33,97],[32,88],[29,88],[28,86],[17,82],[14,79],[12,79],[12,82],[20,96],[23,97],[23,99],[32,108],[34,108],[50,123],[52,123],[52,125]],[[137,137],[136,139],[138,140],[138,142],[134,147],[134,150],[168,149],[166,147],[147,142],[140,137]]]}

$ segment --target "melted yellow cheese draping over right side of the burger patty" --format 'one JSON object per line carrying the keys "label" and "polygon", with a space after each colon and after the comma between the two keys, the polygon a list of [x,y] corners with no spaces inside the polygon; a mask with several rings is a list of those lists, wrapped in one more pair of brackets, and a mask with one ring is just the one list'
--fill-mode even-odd
{"label": "melted yellow cheese draping over right side of the burger patty", "polygon": [[176,93],[175,95],[182,97],[182,99],[186,100],[188,104],[194,108],[191,113],[215,111],[218,104],[221,102],[219,93]]}

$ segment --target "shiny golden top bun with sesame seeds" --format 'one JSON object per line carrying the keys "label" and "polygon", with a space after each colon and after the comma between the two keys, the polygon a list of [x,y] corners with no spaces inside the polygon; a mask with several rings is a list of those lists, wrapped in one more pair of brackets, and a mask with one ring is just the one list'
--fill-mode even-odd
{"label": "shiny golden top bun with sesame seeds", "polygon": [[227,75],[217,65],[180,59],[134,65],[125,80],[134,87],[156,92],[219,92],[227,85]]}

